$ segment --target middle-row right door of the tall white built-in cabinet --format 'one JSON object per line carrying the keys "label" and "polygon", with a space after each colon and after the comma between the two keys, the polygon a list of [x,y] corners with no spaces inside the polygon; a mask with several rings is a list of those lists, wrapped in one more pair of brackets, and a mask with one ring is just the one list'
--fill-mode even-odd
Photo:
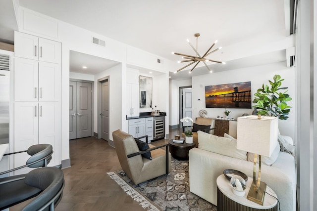
{"label": "middle-row right door of the tall white built-in cabinet", "polygon": [[39,101],[58,101],[61,71],[58,64],[39,62]]}

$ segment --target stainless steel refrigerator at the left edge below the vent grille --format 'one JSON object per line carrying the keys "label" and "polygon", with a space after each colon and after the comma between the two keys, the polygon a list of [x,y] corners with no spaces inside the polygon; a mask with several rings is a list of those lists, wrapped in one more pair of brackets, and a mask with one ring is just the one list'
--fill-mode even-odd
{"label": "stainless steel refrigerator at the left edge below the vent grille", "polygon": [[0,70],[0,144],[9,143],[10,71]]}

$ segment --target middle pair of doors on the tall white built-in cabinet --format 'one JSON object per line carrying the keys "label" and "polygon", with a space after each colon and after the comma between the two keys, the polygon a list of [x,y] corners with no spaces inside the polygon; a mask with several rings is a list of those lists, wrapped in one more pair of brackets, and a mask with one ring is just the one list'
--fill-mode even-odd
{"label": "middle pair of doors on the tall white built-in cabinet", "polygon": [[61,71],[58,64],[31,59],[14,60],[15,101],[58,101]]}

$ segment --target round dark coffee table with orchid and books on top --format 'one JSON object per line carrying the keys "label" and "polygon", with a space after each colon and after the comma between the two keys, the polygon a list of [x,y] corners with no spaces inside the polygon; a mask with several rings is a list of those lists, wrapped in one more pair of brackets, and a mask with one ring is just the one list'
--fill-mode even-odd
{"label": "round dark coffee table with orchid and books on top", "polygon": [[173,139],[168,141],[169,152],[177,160],[188,160],[188,151],[194,147],[195,142],[192,144],[187,144],[186,142],[179,144],[173,143]]}

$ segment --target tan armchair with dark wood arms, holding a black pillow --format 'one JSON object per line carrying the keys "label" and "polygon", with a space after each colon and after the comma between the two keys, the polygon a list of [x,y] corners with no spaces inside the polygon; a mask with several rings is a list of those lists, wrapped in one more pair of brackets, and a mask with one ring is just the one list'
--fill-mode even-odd
{"label": "tan armchair with dark wood arms, holding a black pillow", "polygon": [[[112,132],[114,147],[122,170],[134,184],[156,178],[171,171],[171,155],[168,152],[168,144],[153,146],[150,149],[140,151],[136,140],[132,135],[118,129]],[[160,149],[165,147],[165,150]],[[150,152],[152,160],[142,157],[142,154]]]}

